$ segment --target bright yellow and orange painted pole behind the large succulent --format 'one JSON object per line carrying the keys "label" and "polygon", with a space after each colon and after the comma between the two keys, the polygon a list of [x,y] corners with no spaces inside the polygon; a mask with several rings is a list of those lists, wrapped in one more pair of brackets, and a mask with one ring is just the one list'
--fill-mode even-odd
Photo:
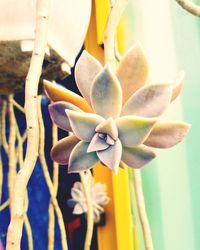
{"label": "bright yellow and orange painted pole behind the large succulent", "polygon": [[[104,30],[109,14],[109,1],[93,1],[91,22],[88,29],[85,48],[102,63]],[[118,43],[123,40],[118,32]],[[99,250],[133,250],[133,219],[131,215],[128,171],[120,169],[118,176],[108,168],[97,164],[94,168],[96,181],[105,183],[111,198],[105,207],[106,225],[98,228]]]}

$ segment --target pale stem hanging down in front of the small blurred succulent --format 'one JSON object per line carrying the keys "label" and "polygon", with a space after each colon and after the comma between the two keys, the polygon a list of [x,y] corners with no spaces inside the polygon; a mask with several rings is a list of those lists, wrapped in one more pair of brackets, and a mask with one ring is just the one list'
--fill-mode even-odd
{"label": "pale stem hanging down in front of the small blurred succulent", "polygon": [[91,185],[92,185],[92,174],[90,170],[86,172],[80,172],[81,182],[83,184],[83,189],[86,197],[86,203],[88,207],[87,211],[87,232],[85,237],[85,246],[84,250],[90,250],[92,235],[93,235],[93,227],[94,227],[94,212],[93,212],[93,204],[91,197]]}

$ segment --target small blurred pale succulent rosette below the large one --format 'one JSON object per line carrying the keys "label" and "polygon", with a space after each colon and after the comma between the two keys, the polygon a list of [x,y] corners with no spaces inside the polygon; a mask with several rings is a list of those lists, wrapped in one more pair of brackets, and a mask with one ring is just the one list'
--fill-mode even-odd
{"label": "small blurred pale succulent rosette below the large one", "polygon": [[[106,194],[106,185],[100,182],[94,182],[92,179],[91,183],[91,199],[93,204],[94,221],[100,220],[100,215],[104,212],[102,206],[109,202],[109,198]],[[84,214],[87,213],[87,201],[81,182],[75,182],[71,189],[72,198],[67,201],[69,207],[73,208],[73,214]]]}

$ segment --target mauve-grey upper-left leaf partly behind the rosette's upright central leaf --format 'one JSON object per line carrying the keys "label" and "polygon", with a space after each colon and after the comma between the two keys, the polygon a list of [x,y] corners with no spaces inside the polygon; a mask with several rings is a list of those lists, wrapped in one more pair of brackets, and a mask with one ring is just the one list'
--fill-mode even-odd
{"label": "mauve-grey upper-left leaf partly behind the rosette's upright central leaf", "polygon": [[95,76],[102,70],[101,64],[86,50],[83,51],[75,67],[75,80],[81,94],[90,104],[90,89]]}

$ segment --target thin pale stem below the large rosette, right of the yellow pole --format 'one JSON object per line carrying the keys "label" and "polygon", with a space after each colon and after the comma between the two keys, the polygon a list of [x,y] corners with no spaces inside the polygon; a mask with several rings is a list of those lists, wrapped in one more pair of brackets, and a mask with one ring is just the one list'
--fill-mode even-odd
{"label": "thin pale stem below the large rosette, right of the yellow pole", "polygon": [[153,241],[152,241],[148,217],[147,217],[147,213],[145,209],[140,170],[134,169],[133,176],[134,176],[134,187],[135,187],[135,195],[136,195],[136,200],[137,200],[137,207],[138,207],[140,222],[142,225],[145,247],[146,247],[146,250],[153,250]]}

